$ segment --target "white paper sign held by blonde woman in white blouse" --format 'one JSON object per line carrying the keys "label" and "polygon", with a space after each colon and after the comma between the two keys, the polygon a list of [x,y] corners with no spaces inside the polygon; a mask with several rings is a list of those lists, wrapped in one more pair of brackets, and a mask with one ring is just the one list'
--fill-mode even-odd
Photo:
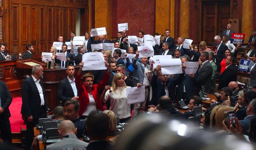
{"label": "white paper sign held by blonde woman in white blouse", "polygon": [[127,104],[145,102],[145,86],[126,88]]}

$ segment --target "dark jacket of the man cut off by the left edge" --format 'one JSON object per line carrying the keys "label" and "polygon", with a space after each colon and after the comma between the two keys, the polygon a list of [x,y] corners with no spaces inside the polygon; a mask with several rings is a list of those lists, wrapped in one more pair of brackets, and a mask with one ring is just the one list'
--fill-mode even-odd
{"label": "dark jacket of the man cut off by the left edge", "polygon": [[10,118],[9,106],[12,102],[12,96],[5,82],[0,82],[0,97],[1,97],[1,107],[4,109],[4,112],[0,114],[1,117],[5,119]]}

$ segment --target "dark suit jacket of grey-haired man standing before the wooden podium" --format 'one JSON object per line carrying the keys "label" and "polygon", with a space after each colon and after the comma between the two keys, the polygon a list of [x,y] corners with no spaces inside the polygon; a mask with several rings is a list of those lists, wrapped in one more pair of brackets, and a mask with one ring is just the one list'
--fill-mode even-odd
{"label": "dark suit jacket of grey-haired man standing before the wooden podium", "polygon": [[[43,90],[44,94],[44,86],[42,81],[40,80],[40,85]],[[44,106],[45,106],[45,113],[48,109],[47,100],[44,95]],[[41,107],[41,98],[36,87],[36,83],[34,82],[32,76],[27,78],[22,83],[22,106],[21,106],[21,114],[25,117],[33,116],[33,119],[38,119],[43,114],[40,114],[38,110]]]}

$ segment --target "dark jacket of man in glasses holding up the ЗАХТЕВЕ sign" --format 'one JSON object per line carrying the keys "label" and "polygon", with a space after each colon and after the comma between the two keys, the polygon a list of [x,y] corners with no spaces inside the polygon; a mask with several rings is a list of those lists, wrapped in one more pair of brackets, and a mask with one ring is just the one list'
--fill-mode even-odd
{"label": "dark jacket of man in glasses holding up the \u0417\u0410\u0425\u0422\u0415\u0412\u0415 sign", "polygon": [[[184,78],[184,74],[177,74],[174,78],[168,78],[166,82],[166,86],[168,87],[169,97],[172,98],[172,101],[175,101],[175,86],[178,83],[182,82]],[[158,100],[160,97],[165,95],[164,86],[162,82],[159,80],[158,75],[156,76],[153,73],[153,77],[151,80],[152,87],[152,99],[150,100],[150,105],[158,105]]]}

